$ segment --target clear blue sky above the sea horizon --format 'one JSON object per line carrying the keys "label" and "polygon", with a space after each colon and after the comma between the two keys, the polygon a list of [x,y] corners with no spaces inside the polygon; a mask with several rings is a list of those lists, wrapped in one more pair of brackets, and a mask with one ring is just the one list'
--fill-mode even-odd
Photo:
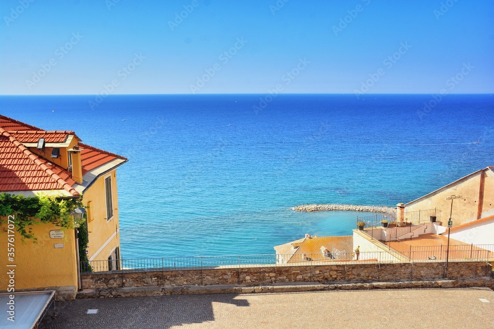
{"label": "clear blue sky above the sea horizon", "polygon": [[494,91],[491,0],[32,1],[0,4],[3,95]]}

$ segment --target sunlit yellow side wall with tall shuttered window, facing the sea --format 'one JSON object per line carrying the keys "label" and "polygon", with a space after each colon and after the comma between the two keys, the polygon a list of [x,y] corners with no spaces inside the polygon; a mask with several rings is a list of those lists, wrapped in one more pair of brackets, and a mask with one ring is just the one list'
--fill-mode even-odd
{"label": "sunlit yellow side wall with tall shuttered window, facing the sea", "polygon": [[[105,179],[112,178],[113,218],[107,220]],[[89,206],[87,210],[87,230],[89,232],[88,258],[92,260],[107,260],[111,252],[120,246],[119,210],[117,196],[117,171],[100,177],[93,183],[82,198],[83,203]],[[113,236],[113,237],[112,237]],[[100,250],[100,248],[107,245]]]}

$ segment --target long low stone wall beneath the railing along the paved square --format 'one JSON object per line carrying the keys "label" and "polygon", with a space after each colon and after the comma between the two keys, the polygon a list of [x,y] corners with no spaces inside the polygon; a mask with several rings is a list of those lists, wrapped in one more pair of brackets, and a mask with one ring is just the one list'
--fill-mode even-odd
{"label": "long low stone wall beneath the railing along the paved square", "polygon": [[[83,289],[182,287],[211,285],[270,285],[275,283],[368,283],[444,278],[444,262],[259,266],[203,270],[94,273],[82,275]],[[450,262],[448,279],[491,276],[486,262]]]}

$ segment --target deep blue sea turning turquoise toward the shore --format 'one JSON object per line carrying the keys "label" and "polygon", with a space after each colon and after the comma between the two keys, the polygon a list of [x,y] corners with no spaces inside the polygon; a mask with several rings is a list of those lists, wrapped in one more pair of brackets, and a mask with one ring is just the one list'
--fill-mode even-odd
{"label": "deep blue sea turning turquoise toward the shore", "polygon": [[[304,233],[348,235],[396,205],[494,165],[492,95],[1,96],[0,113],[122,154],[124,258],[273,254]],[[434,102],[432,102],[434,104]],[[422,111],[418,112],[417,111]]]}

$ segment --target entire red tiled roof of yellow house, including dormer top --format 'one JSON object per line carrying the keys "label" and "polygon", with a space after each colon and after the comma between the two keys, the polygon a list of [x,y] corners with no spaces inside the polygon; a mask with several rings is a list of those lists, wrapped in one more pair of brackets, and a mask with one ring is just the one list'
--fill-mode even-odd
{"label": "entire red tiled roof of yellow house, including dormer top", "polygon": [[[72,186],[76,183],[72,174],[31,152],[22,143],[37,143],[42,137],[45,143],[63,143],[73,131],[44,131],[0,115],[0,191],[32,191],[65,189],[74,196],[80,195]],[[78,139],[79,140],[79,139]],[[79,143],[83,148],[82,174],[125,157],[96,147]]]}

